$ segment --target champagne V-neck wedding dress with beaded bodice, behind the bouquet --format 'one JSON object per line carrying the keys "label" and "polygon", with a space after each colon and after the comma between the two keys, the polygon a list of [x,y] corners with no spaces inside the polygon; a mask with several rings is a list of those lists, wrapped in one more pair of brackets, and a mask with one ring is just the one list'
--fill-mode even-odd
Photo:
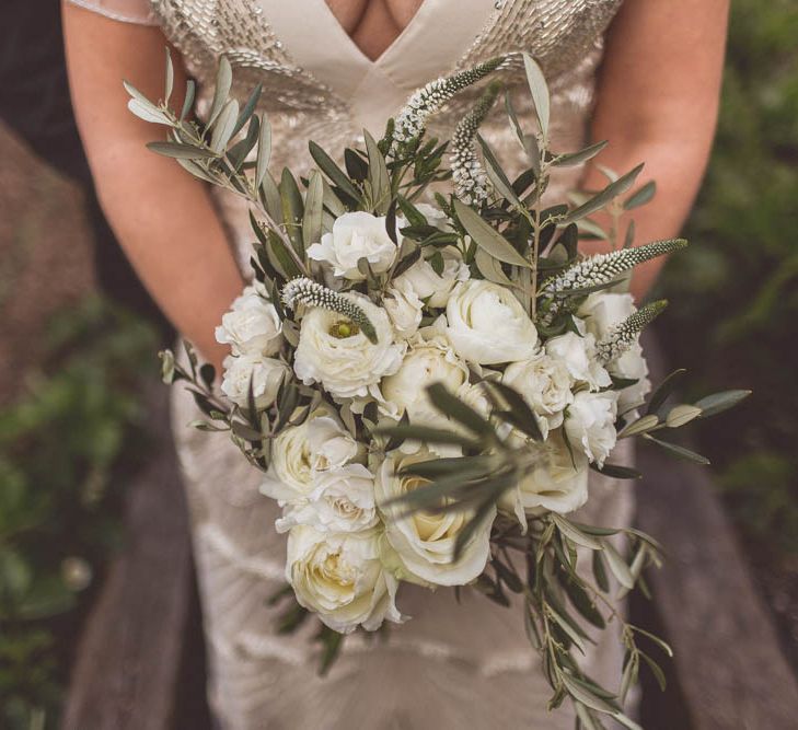
{"label": "champagne V-neck wedding dress with beaded bodice, behind the bouquet", "polygon": [[[199,82],[208,109],[216,67],[225,55],[242,101],[263,84],[273,126],[273,171],[311,164],[313,139],[331,153],[357,143],[363,127],[379,137],[388,116],[426,82],[512,50],[542,65],[552,89],[552,147],[586,141],[602,36],[622,0],[425,0],[375,61],[339,25],[324,0],[71,0],[119,21],[158,24]],[[521,69],[505,71],[520,114],[532,118]],[[474,92],[478,93],[478,92]],[[433,124],[451,130],[473,94]],[[513,169],[517,142],[497,105],[482,134]],[[153,128],[153,136],[157,134]],[[143,154],[144,152],[142,152]],[[550,195],[575,187],[564,169]],[[251,240],[245,210],[215,192],[242,266]],[[173,390],[174,432],[188,494],[210,658],[209,697],[224,729],[573,728],[569,707],[550,712],[551,694],[529,647],[520,605],[505,609],[472,590],[430,592],[404,584],[398,605],[412,621],[388,637],[347,639],[325,679],[316,674],[312,626],[280,635],[268,598],[284,583],[285,535],[275,503],[258,493],[261,475],[224,434],[186,427],[190,397]],[[629,454],[615,462],[628,463]],[[628,483],[591,475],[586,520],[628,524]],[[312,622],[308,622],[311,624]],[[589,673],[617,687],[621,651],[612,629],[592,647]]]}

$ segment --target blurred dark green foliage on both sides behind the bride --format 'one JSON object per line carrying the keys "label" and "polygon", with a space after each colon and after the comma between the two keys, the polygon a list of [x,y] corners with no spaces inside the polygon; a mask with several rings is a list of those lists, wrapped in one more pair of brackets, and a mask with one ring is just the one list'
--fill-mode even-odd
{"label": "blurred dark green foliage on both sides behind the bride", "polygon": [[[660,285],[672,302],[660,334],[695,394],[754,390],[696,439],[798,668],[798,2],[732,5],[717,144],[693,246]],[[18,220],[0,262],[4,309],[42,235]],[[26,335],[36,351],[0,407],[3,728],[57,716],[76,633],[119,544],[123,475],[146,449],[138,393],[154,373],[152,331],[92,287]]]}

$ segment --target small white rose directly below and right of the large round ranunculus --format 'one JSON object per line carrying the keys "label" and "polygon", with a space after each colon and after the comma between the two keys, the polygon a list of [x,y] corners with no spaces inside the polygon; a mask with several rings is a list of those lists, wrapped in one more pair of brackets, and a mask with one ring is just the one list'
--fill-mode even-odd
{"label": "small white rose directly below and right of the large round ranunculus", "polygon": [[550,429],[563,425],[563,412],[574,399],[574,380],[563,360],[539,352],[529,360],[510,363],[501,382],[521,393],[540,416],[544,438]]}

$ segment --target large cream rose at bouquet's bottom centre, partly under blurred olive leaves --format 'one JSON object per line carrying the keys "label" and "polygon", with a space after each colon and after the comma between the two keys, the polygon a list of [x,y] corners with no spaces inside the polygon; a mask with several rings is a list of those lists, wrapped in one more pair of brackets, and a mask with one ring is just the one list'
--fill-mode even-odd
{"label": "large cream rose at bouquet's bottom centre, partly under blurred olive leaves", "polygon": [[401,563],[398,577],[417,579],[438,586],[464,586],[485,569],[489,555],[490,526],[495,512],[486,515],[481,526],[469,538],[460,558],[452,563],[454,543],[470,512],[416,512],[401,517],[405,507],[385,507],[386,502],[427,484],[416,476],[401,476],[397,472],[408,464],[428,461],[430,454],[418,452],[404,455],[389,454],[377,475],[377,501],[386,513],[385,534]]}

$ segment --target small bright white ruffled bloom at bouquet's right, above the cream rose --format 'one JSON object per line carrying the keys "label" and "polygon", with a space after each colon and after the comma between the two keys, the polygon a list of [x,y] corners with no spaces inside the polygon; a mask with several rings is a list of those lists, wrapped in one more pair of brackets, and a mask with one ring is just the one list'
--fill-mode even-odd
{"label": "small bright white ruffled bloom at bouquet's right, above the cream rose", "polygon": [[580,445],[591,462],[603,466],[617,440],[616,417],[617,393],[581,391],[568,406],[565,432],[574,447]]}

